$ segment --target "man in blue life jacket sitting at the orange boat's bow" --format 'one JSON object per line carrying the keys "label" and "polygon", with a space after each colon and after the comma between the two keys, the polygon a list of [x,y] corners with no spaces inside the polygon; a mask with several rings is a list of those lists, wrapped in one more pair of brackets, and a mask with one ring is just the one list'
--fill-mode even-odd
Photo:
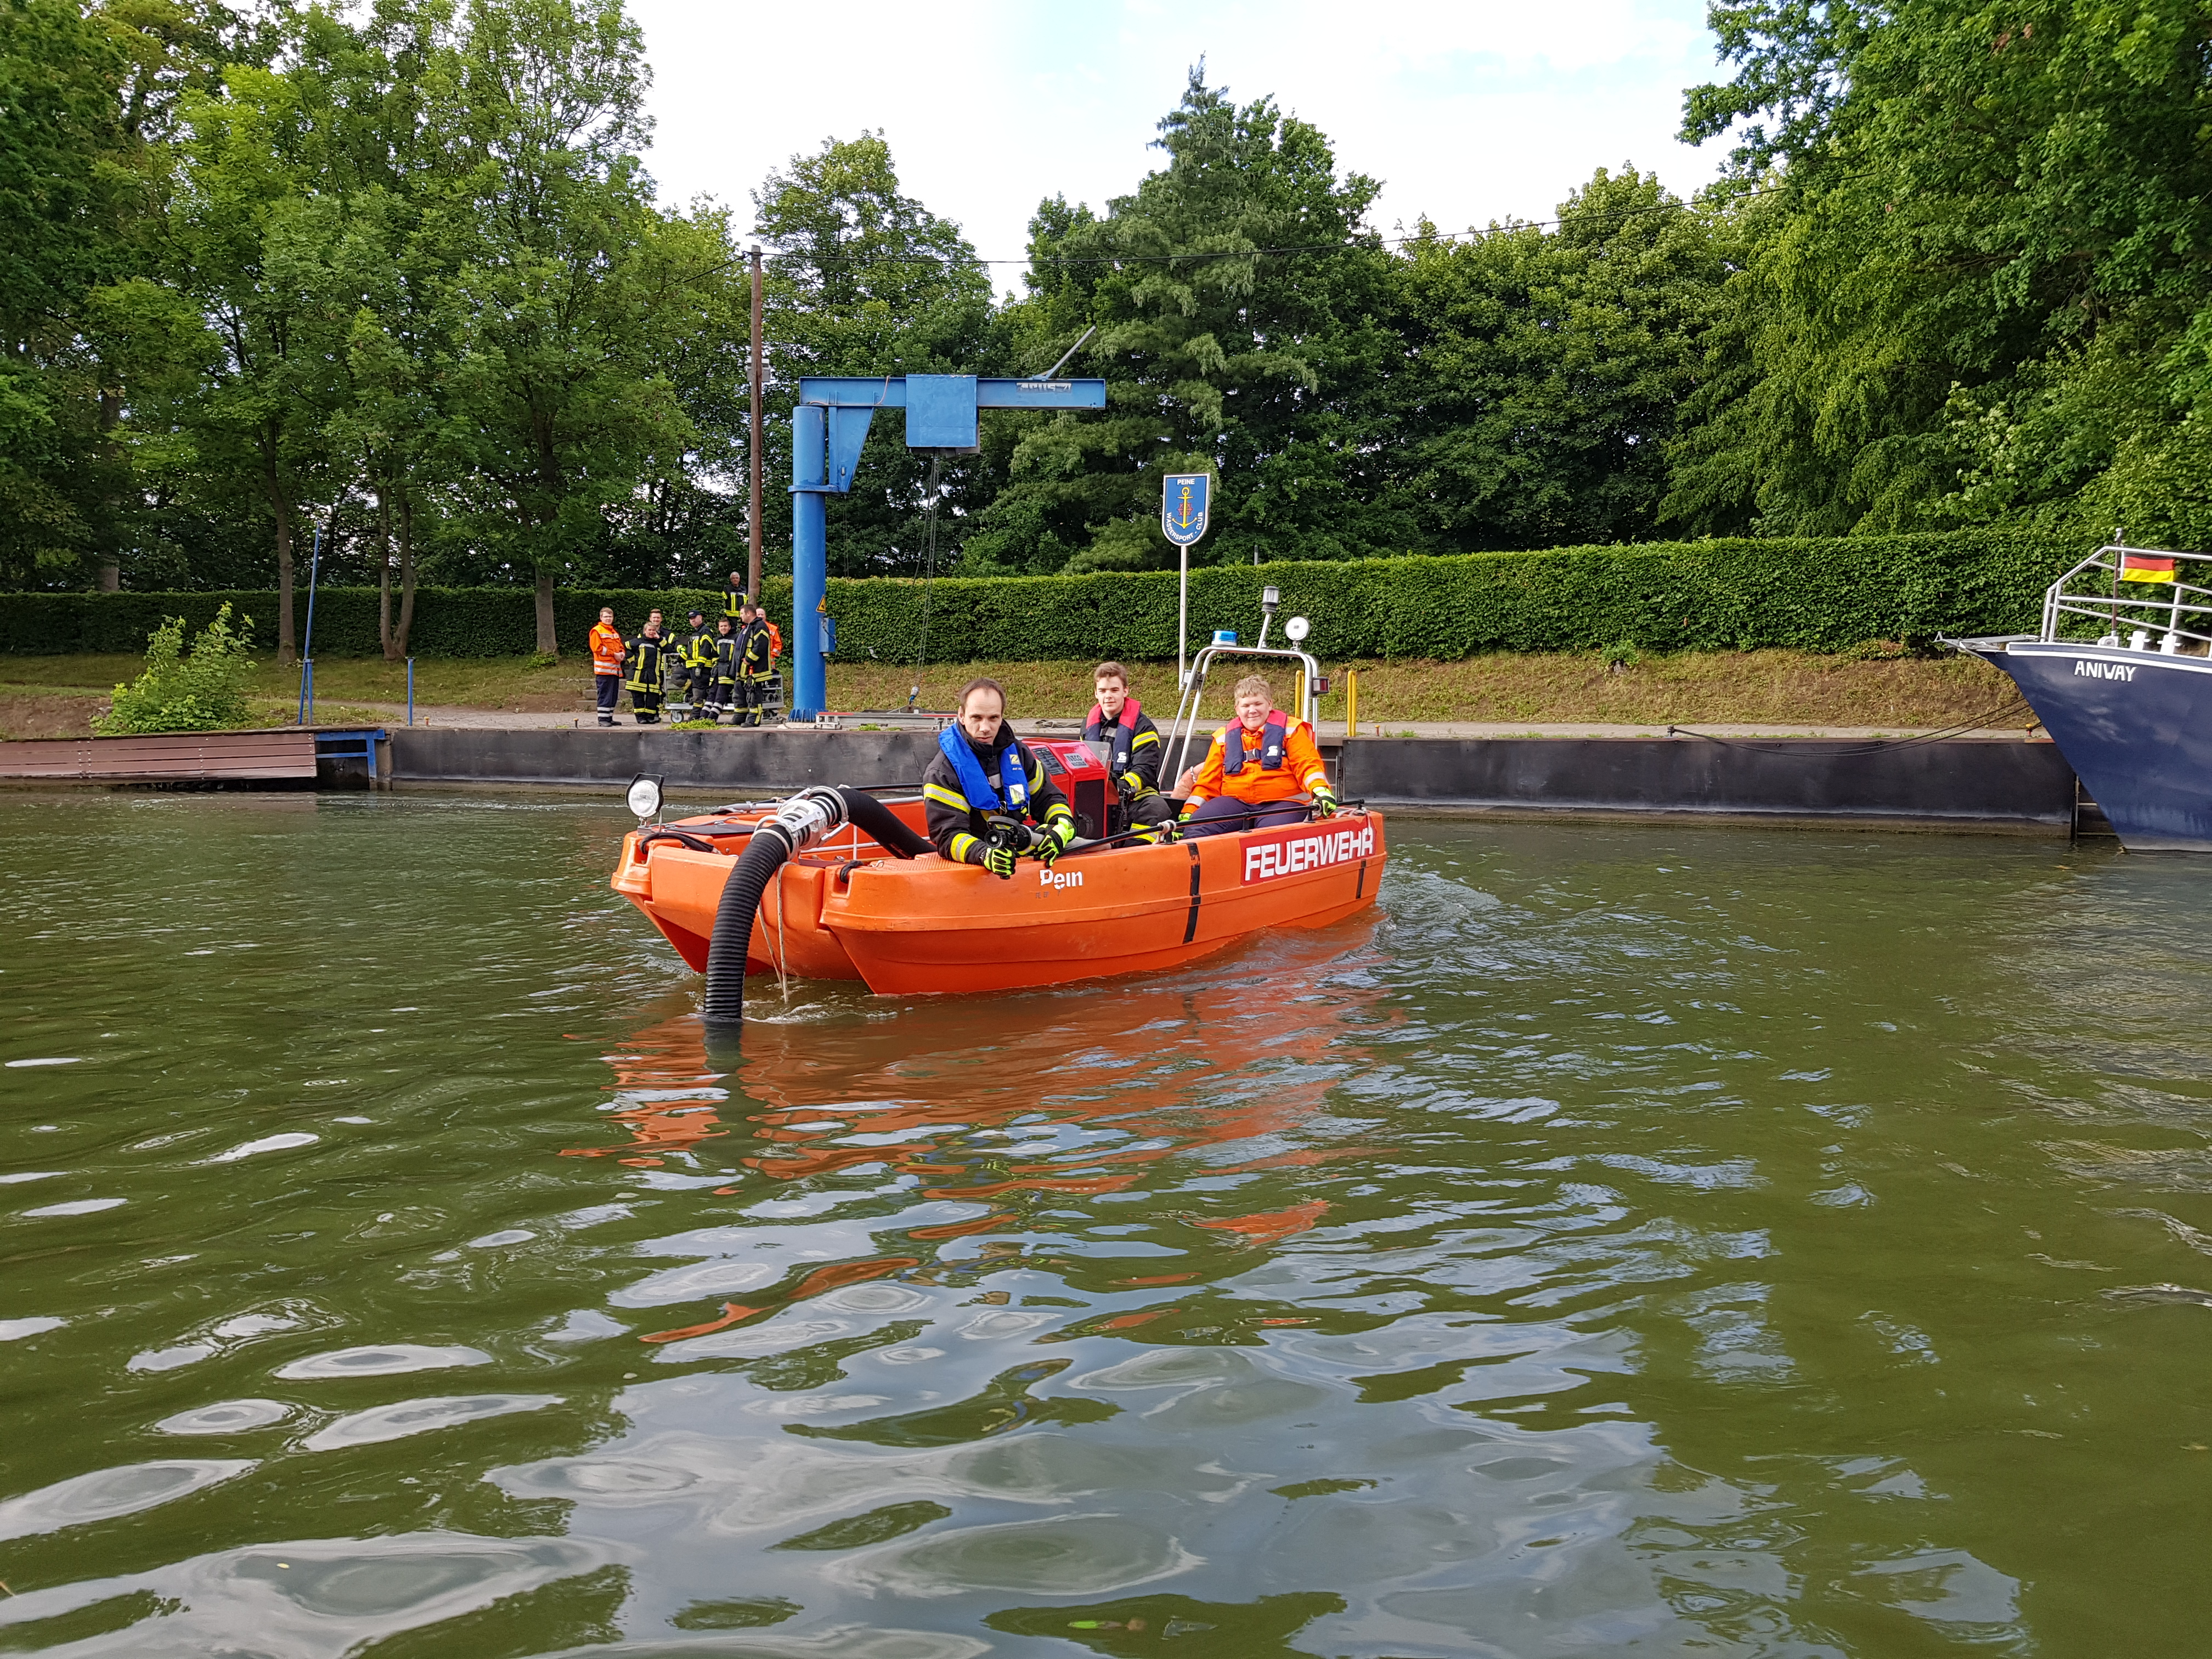
{"label": "man in blue life jacket sitting at the orange boat's bow", "polygon": [[960,719],[938,734],[922,770],[922,799],[938,852],[1000,880],[1013,876],[1018,854],[1051,865],[1075,841],[1075,812],[1015,741],[995,679],[971,679],[960,692]]}

